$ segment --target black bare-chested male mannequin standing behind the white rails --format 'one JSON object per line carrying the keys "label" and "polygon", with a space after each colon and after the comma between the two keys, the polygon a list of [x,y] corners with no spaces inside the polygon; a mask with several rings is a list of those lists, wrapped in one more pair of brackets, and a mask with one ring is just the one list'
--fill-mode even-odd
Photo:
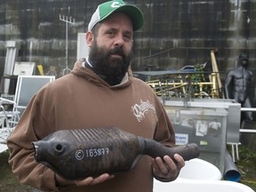
{"label": "black bare-chested male mannequin standing behind the white rails", "polygon": [[[225,83],[225,91],[228,99],[236,100],[244,108],[252,108],[252,100],[249,88],[252,84],[252,71],[248,70],[248,55],[242,53],[239,56],[239,67],[229,71]],[[245,113],[245,119],[253,121],[252,112]]]}

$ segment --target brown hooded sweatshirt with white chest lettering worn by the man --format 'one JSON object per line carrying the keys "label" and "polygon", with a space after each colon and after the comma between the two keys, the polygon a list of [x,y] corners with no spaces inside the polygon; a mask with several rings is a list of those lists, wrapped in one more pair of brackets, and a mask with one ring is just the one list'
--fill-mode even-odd
{"label": "brown hooded sweatshirt with white chest lettering worn by the man", "polygon": [[30,100],[8,140],[12,172],[21,183],[45,191],[151,192],[151,157],[143,156],[129,172],[85,187],[58,188],[55,173],[36,163],[32,141],[66,129],[116,126],[126,132],[172,146],[174,132],[155,93],[131,73],[122,84],[110,86],[78,60],[72,72],[44,86]]}

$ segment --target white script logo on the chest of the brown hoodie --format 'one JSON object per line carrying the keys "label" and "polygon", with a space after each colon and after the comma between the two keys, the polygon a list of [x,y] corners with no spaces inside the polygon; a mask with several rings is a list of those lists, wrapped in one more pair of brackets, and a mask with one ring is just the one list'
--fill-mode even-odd
{"label": "white script logo on the chest of the brown hoodie", "polygon": [[145,119],[145,115],[148,114],[148,112],[156,114],[156,108],[149,102],[149,100],[140,100],[139,104],[132,106],[132,112],[133,115],[136,116],[137,121],[141,122],[143,119]]}

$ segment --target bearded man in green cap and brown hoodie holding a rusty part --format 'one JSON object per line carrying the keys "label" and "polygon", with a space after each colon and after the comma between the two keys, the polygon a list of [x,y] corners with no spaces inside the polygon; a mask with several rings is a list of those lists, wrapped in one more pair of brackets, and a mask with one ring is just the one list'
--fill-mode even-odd
{"label": "bearded man in green cap and brown hoodie holding a rusty part", "polygon": [[29,102],[8,140],[12,172],[21,183],[42,190],[148,192],[157,180],[175,180],[181,156],[143,156],[129,172],[84,180],[67,180],[34,160],[31,142],[57,130],[115,126],[174,145],[172,124],[156,95],[129,70],[133,31],[143,25],[140,9],[123,1],[100,4],[92,15],[86,41],[89,57],[78,60],[67,76],[47,84]]}

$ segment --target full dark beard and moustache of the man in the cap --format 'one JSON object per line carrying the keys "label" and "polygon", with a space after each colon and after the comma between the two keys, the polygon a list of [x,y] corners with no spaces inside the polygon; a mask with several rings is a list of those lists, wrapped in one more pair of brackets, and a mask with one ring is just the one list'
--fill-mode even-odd
{"label": "full dark beard and moustache of the man in the cap", "polygon": [[[119,55],[120,57],[111,57],[112,54]],[[100,48],[96,41],[93,42],[89,59],[92,62],[92,70],[104,76],[108,84],[120,84],[124,75],[128,71],[132,60],[132,52],[125,56],[121,47],[115,47],[112,50]]]}

